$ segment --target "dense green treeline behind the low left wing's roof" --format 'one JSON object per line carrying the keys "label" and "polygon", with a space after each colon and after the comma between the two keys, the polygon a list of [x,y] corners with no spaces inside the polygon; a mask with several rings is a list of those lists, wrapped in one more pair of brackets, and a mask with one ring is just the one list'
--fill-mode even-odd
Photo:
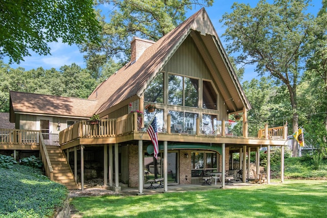
{"label": "dense green treeline behind the low left wing's roof", "polygon": [[9,112],[9,91],[87,98],[99,83],[76,64],[25,71],[0,61],[0,112]]}

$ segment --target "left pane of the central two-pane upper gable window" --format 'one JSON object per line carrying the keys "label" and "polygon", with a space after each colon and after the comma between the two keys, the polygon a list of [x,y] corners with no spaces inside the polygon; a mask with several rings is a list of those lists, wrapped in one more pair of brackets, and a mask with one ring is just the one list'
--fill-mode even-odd
{"label": "left pane of the central two-pane upper gable window", "polygon": [[169,75],[168,104],[183,105],[183,77]]}

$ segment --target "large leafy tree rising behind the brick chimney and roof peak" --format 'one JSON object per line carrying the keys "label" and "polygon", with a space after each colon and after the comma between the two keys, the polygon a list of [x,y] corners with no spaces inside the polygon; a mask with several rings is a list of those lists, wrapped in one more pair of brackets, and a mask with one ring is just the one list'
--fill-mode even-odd
{"label": "large leafy tree rising behind the brick chimney and roof peak", "polygon": [[81,46],[81,52],[86,52],[87,68],[95,77],[101,76],[102,66],[110,59],[126,63],[133,36],[157,41],[179,25],[192,6],[209,7],[213,0],[99,0],[98,4],[112,9],[108,17],[98,14],[101,43],[88,41]]}

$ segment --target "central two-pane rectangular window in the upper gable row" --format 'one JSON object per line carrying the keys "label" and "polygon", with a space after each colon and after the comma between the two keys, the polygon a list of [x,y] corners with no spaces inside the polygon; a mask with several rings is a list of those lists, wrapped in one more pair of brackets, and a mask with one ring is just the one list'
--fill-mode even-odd
{"label": "central two-pane rectangular window in the upper gable row", "polygon": [[169,75],[168,79],[168,104],[198,107],[199,81],[188,77]]}

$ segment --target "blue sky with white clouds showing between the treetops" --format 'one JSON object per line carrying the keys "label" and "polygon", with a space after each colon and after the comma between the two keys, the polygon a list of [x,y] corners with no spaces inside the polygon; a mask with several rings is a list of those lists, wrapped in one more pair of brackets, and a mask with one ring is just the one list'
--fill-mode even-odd
{"label": "blue sky with white clouds showing between the treetops", "polygon": [[[322,0],[313,0],[308,9],[308,12],[316,15],[318,10],[321,8]],[[230,12],[230,7],[234,2],[250,4],[251,7],[255,7],[255,5],[259,1],[233,1],[233,0],[216,0],[212,7],[206,8],[206,11],[211,19],[215,30],[220,37],[223,44],[225,44],[224,39],[221,38],[221,35],[224,33],[224,29],[222,28],[222,23],[219,22],[222,15],[225,12]],[[268,1],[272,2],[272,1]],[[186,14],[186,17],[191,16],[193,13],[200,9],[199,6],[193,8],[192,11]],[[104,11],[105,12],[105,11]],[[50,43],[51,54],[48,56],[39,56],[35,53],[31,53],[32,56],[25,57],[19,65],[12,64],[11,67],[17,68],[18,66],[25,68],[26,70],[36,69],[38,67],[43,67],[44,69],[50,69],[52,67],[59,69],[63,65],[71,65],[72,63],[76,63],[82,68],[85,68],[85,62],[83,60],[83,54],[79,52],[79,49],[76,45],[68,45],[62,42],[58,43]],[[8,63],[8,58],[4,59],[5,63]],[[256,77],[256,73],[254,72],[254,66],[247,66],[245,68],[244,80],[251,80]]]}

